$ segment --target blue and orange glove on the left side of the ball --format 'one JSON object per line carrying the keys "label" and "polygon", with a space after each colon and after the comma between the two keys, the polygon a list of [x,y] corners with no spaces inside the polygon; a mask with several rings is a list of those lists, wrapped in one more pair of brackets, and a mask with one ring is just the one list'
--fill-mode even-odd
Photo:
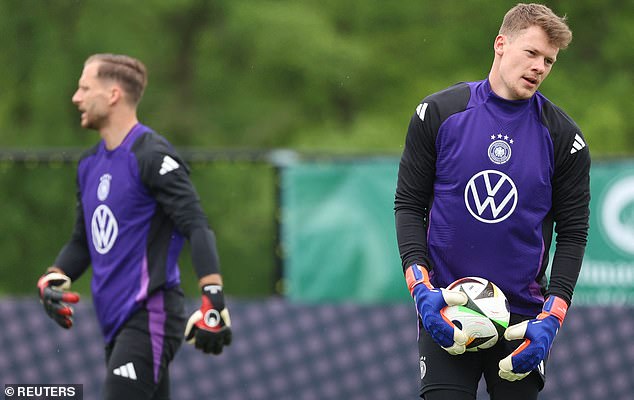
{"label": "blue and orange glove on the left side of the ball", "polygon": [[423,266],[414,264],[405,272],[405,280],[409,288],[416,310],[423,327],[436,343],[449,354],[462,354],[468,337],[451,321],[440,314],[446,306],[467,303],[467,295],[457,290],[435,289],[429,282],[429,273]]}

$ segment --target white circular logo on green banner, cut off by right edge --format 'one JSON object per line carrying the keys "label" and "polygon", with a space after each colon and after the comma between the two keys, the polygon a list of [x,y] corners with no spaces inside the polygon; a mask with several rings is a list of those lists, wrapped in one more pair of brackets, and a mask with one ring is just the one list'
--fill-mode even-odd
{"label": "white circular logo on green banner, cut off by right edge", "polygon": [[612,244],[634,254],[634,176],[608,188],[601,206],[601,225]]}

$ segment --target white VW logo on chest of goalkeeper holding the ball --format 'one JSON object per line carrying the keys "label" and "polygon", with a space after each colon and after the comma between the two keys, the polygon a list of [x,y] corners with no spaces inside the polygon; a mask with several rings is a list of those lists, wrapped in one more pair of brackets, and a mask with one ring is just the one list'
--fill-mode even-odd
{"label": "white VW logo on chest of goalkeeper holding the ball", "polygon": [[517,206],[517,188],[508,175],[492,169],[475,174],[465,187],[469,213],[486,224],[507,219]]}

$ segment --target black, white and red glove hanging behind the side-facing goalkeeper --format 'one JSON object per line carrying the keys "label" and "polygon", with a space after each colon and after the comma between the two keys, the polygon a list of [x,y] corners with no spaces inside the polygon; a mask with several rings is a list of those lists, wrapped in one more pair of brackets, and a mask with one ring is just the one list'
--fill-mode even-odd
{"label": "black, white and red glove hanging behind the side-facing goalkeeper", "polygon": [[202,305],[185,328],[185,340],[205,353],[220,354],[222,347],[231,344],[231,318],[225,308],[222,286],[205,285]]}

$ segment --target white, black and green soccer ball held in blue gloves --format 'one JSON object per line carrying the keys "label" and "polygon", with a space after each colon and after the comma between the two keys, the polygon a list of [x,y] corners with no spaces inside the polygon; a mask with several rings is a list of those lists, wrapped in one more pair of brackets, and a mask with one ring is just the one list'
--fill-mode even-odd
{"label": "white, black and green soccer ball held in blue gloves", "polygon": [[511,312],[504,293],[484,278],[466,277],[447,287],[457,289],[469,300],[462,306],[447,306],[440,313],[467,334],[467,351],[488,349],[509,326]]}

